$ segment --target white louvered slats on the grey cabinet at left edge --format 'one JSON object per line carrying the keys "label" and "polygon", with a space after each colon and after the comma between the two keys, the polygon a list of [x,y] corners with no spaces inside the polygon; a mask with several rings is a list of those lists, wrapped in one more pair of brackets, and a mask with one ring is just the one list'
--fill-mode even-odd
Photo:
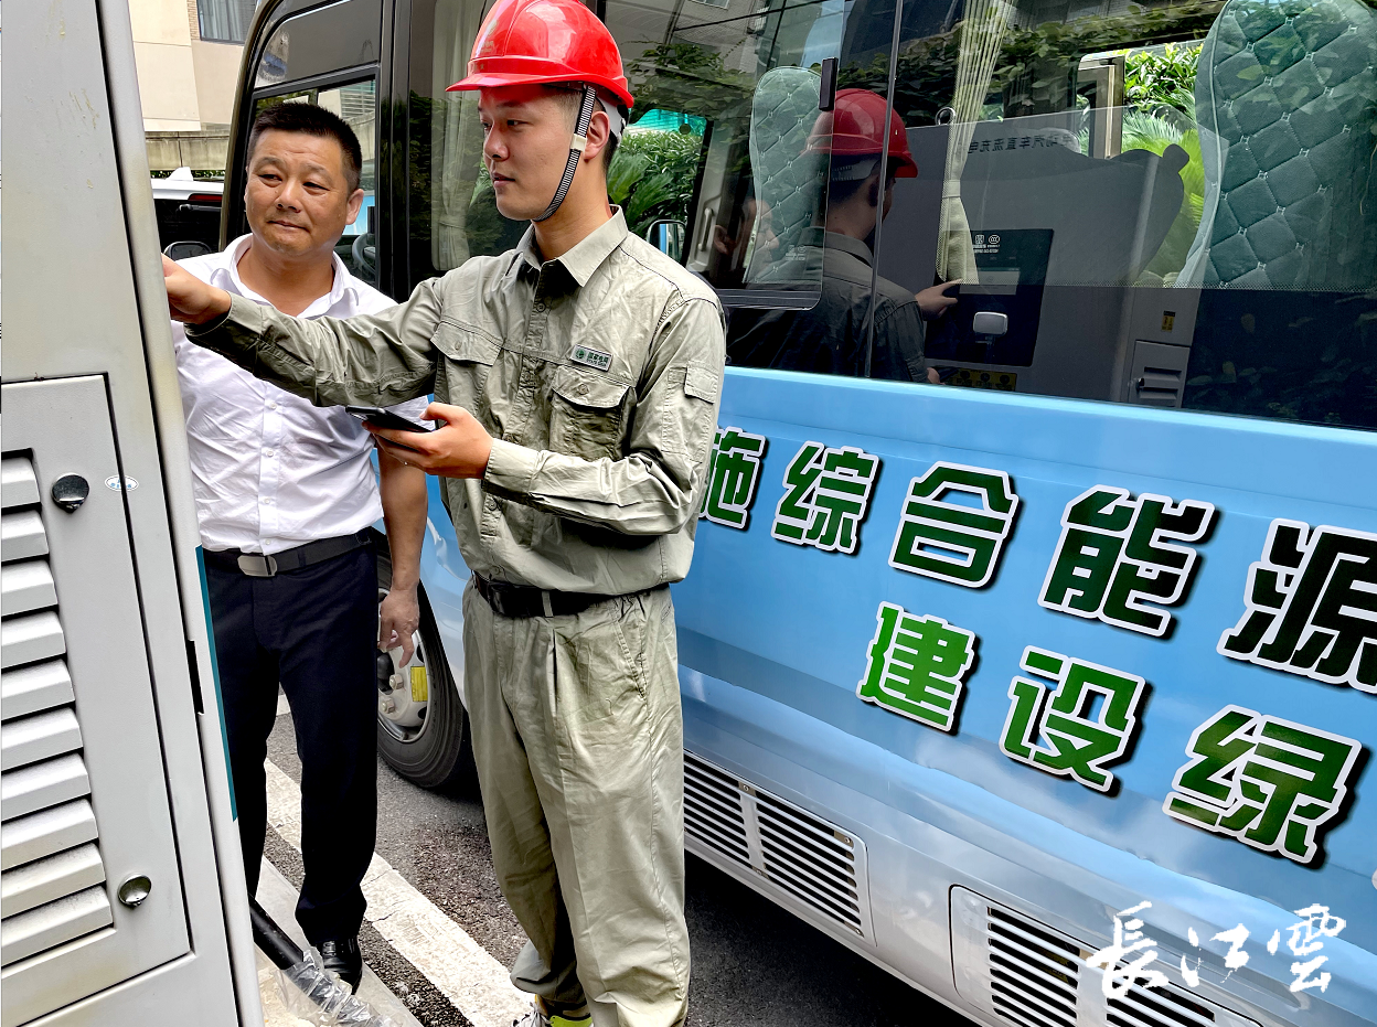
{"label": "white louvered slats on the grey cabinet at left edge", "polygon": [[33,464],[6,456],[0,480],[0,965],[8,966],[113,917]]}

